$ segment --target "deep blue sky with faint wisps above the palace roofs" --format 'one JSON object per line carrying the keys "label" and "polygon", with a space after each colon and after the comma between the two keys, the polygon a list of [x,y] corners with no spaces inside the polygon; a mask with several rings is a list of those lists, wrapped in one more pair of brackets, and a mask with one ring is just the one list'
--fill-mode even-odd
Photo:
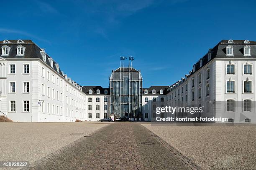
{"label": "deep blue sky with faint wisps above the palace roofs", "polygon": [[80,85],[108,87],[121,55],[135,58],[144,87],[171,85],[220,40],[255,41],[255,9],[254,0],[18,0],[5,5],[0,36],[33,40]]}

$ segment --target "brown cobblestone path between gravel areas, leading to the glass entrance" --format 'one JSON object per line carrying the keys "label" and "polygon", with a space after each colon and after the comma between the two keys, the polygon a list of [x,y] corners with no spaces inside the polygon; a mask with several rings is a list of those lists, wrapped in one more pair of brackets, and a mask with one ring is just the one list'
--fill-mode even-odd
{"label": "brown cobblestone path between gravel areas, leading to the glass entrance", "polygon": [[29,170],[200,170],[136,122],[115,122],[43,158]]}

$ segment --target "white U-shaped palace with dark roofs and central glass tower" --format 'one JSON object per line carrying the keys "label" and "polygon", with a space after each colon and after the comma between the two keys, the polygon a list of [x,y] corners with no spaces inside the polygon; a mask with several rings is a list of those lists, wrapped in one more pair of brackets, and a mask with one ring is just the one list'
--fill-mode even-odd
{"label": "white U-shaped palace with dark roofs and central glass tower", "polygon": [[[14,122],[152,121],[156,107],[204,107],[200,115],[256,123],[256,42],[222,40],[172,85],[143,88],[140,70],[119,67],[110,87],[83,86],[31,40],[0,42],[0,116]],[[164,115],[161,115],[164,116]]]}

